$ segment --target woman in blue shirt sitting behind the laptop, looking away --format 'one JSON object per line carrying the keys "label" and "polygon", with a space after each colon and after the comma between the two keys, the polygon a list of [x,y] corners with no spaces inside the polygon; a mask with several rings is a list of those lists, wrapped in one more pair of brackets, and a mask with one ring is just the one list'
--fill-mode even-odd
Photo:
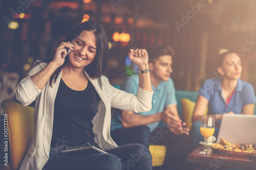
{"label": "woman in blue shirt sitting behind the laptop, looking away", "polygon": [[207,79],[199,89],[193,112],[193,126],[190,130],[189,148],[193,150],[199,141],[204,141],[200,133],[203,113],[208,106],[207,115],[215,118],[215,136],[218,136],[224,113],[253,114],[255,96],[251,84],[240,79],[241,58],[236,53],[225,52],[218,56],[220,79]]}

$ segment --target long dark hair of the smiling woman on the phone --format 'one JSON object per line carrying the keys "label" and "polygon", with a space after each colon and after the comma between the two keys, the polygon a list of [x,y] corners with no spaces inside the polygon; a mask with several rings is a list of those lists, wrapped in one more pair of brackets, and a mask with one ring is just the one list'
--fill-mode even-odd
{"label": "long dark hair of the smiling woman on the phone", "polygon": [[[75,39],[82,31],[92,31],[95,36],[96,36],[96,55],[95,55],[95,60],[93,60],[89,65],[87,65],[86,67],[84,67],[84,70],[86,70],[87,74],[91,77],[91,78],[97,78],[98,79],[98,84],[100,86],[100,88],[102,89],[102,81],[101,81],[101,75],[104,72],[105,68],[106,68],[106,64],[107,64],[107,56],[108,56],[108,49],[109,49],[109,43],[108,43],[108,37],[106,36],[106,32],[105,30],[98,25],[97,23],[95,23],[94,21],[86,21],[83,23],[80,23],[76,28],[74,28],[71,33],[67,36],[67,38],[65,39],[65,42],[68,41],[72,41],[73,39]],[[51,62],[51,59],[47,59],[47,60],[40,60],[39,62],[35,63],[35,65],[41,63],[41,62]],[[67,56],[65,58],[65,62],[63,65],[61,65],[60,67],[58,67],[54,73],[52,74],[51,78],[50,78],[50,85],[52,86],[53,83],[56,82],[60,71],[63,67],[65,67],[69,62],[69,57]]]}

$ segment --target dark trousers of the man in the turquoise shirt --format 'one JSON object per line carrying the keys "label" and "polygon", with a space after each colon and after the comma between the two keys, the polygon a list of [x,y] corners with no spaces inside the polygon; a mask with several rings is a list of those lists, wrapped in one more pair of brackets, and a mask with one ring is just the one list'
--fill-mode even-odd
{"label": "dark trousers of the man in the turquoise shirt", "polygon": [[167,127],[159,127],[152,133],[147,126],[121,128],[111,131],[111,137],[117,145],[140,143],[148,147],[149,144],[166,146],[164,164],[154,169],[188,169],[186,163],[187,135],[175,135]]}

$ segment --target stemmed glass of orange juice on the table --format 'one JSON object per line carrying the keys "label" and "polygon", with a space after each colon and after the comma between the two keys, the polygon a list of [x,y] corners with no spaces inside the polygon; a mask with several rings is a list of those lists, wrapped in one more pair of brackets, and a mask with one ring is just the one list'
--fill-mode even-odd
{"label": "stemmed glass of orange juice on the table", "polygon": [[211,116],[203,116],[201,126],[200,126],[200,132],[205,138],[205,148],[204,151],[200,152],[200,154],[210,154],[207,151],[207,139],[215,132],[215,123],[214,123],[214,117]]}

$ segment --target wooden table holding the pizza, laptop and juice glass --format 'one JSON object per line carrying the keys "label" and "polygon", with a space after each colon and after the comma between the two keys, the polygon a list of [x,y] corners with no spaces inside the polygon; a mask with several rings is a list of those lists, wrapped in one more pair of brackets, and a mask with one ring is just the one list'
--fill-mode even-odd
{"label": "wooden table holding the pizza, laptop and juice glass", "polygon": [[256,169],[256,160],[249,159],[247,156],[233,156],[226,152],[216,153],[212,152],[211,148],[208,149],[212,154],[202,155],[199,152],[203,151],[203,149],[203,146],[199,146],[191,152],[187,157],[187,162],[204,164],[213,169],[222,167]]}

